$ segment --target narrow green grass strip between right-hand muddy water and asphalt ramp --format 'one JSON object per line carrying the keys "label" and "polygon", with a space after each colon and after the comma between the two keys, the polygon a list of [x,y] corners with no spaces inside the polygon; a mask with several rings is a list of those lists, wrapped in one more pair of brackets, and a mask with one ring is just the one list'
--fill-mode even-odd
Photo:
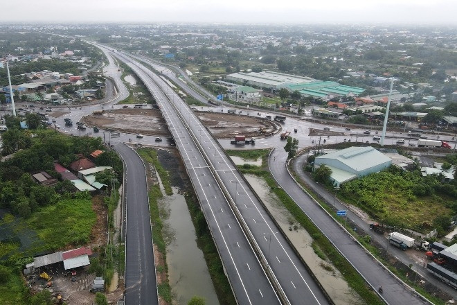
{"label": "narrow green grass strip between right-hand muddy water and asphalt ramp", "polygon": [[[264,156],[266,158],[267,155]],[[285,208],[294,216],[295,221],[299,223],[313,238],[313,249],[316,254],[324,255],[332,265],[335,266],[348,282],[348,285],[354,289],[359,296],[364,299],[366,304],[384,304],[379,297],[368,287],[364,279],[359,273],[352,268],[352,265],[334,248],[332,243],[321,234],[321,231],[312,223],[305,213],[298,207],[298,205],[287,195],[287,193],[279,188],[276,181],[271,176],[269,171],[265,171],[258,166],[242,166],[240,168],[242,173],[250,173],[262,177],[267,182],[271,191],[278,197],[280,202],[283,202]],[[319,255],[319,254],[318,254]]]}

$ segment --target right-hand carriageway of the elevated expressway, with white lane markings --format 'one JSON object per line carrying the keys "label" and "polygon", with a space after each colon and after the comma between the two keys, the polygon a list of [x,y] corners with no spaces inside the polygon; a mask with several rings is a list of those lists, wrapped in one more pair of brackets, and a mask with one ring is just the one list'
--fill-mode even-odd
{"label": "right-hand carriageway of the elevated expressway, with white lane markings", "polygon": [[[163,80],[153,74],[150,74],[150,76],[157,83],[163,82]],[[166,88],[164,83],[162,85]],[[156,99],[158,99],[160,93],[154,92],[154,94],[157,96]],[[285,238],[281,234],[278,234],[278,228],[262,208],[256,195],[249,189],[249,185],[244,181],[242,175],[240,175],[234,164],[231,163],[222,148],[217,144],[217,141],[211,137],[206,128],[203,127],[190,108],[181,101],[177,94],[174,94],[170,89],[168,89],[166,94],[170,101],[175,103],[179,112],[181,112],[181,116],[188,121],[188,128],[199,139],[209,161],[213,164],[215,171],[217,171],[217,175],[220,175],[220,179],[223,181],[228,193],[231,194],[231,198],[235,199],[234,201],[244,221],[256,237],[256,241],[264,256],[268,256],[269,268],[274,270],[274,274],[280,281],[281,287],[285,290],[289,301],[292,304],[300,304],[303,302],[303,299],[307,299],[310,304],[312,304],[311,302],[315,304],[326,304],[327,300],[319,289],[319,286],[314,283],[312,277],[307,273],[305,266],[298,256],[296,256],[287,241],[285,241]],[[160,107],[163,110],[163,105],[160,105]],[[165,116],[165,119],[168,120],[167,116]],[[208,187],[210,187],[210,184],[208,184]],[[273,243],[269,242],[269,235],[274,236],[271,238],[274,241]]]}

